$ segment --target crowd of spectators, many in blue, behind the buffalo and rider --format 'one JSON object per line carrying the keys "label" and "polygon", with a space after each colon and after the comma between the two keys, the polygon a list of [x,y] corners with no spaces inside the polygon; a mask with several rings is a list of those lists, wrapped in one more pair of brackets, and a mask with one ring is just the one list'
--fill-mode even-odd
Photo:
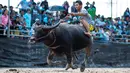
{"label": "crowd of spectators, many in blue, behind the buffalo and rider", "polygon": [[[67,1],[62,5],[65,11],[57,11],[55,15],[49,11],[47,0],[37,3],[33,2],[33,0],[30,0],[29,2],[21,0],[16,8],[18,8],[19,5],[21,5],[21,8],[19,9],[19,12],[17,12],[14,10],[13,6],[10,6],[8,11],[7,6],[0,4],[0,28],[4,29],[4,34],[8,29],[8,25],[10,25],[11,29],[24,31],[30,29],[36,19],[39,20],[40,24],[51,25],[53,21],[64,18],[69,13],[69,8],[71,8],[71,12],[77,12],[74,6],[75,2],[73,2],[73,5],[70,7]],[[111,17],[106,18],[103,15],[97,15],[95,2],[92,2],[92,4],[86,2],[84,9],[91,15],[93,23],[90,24],[90,31],[93,34],[100,32],[103,33],[103,36],[105,37],[108,37],[113,33],[130,34],[129,8],[126,9],[122,17],[114,19]],[[8,14],[10,14],[10,17]],[[67,20],[67,23],[79,24],[80,22],[78,17],[71,17]],[[106,33],[106,35],[104,35],[104,33]]]}

